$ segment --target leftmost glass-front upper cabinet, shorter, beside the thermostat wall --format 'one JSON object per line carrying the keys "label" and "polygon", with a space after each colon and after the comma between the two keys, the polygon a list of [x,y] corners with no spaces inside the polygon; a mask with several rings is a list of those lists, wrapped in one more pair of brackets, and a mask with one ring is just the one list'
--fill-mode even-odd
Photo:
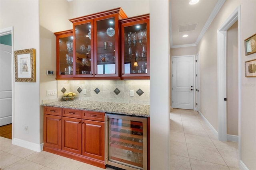
{"label": "leftmost glass-front upper cabinet, shorter, beside the thermostat wall", "polygon": [[73,77],[73,34],[72,29],[54,33],[56,35],[57,70],[56,79]]}

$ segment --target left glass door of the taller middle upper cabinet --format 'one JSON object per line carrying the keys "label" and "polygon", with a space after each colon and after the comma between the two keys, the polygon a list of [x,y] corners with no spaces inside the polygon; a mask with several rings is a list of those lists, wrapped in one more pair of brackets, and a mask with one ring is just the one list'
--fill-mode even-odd
{"label": "left glass door of the taller middle upper cabinet", "polygon": [[74,23],[74,77],[93,77],[93,20]]}

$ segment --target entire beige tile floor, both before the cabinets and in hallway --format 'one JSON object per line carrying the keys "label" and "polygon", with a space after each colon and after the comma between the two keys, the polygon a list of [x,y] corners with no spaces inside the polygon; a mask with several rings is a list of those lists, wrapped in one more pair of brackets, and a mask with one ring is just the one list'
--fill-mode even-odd
{"label": "entire beige tile floor, both before the cabinets and in hallway", "polygon": [[[12,145],[0,137],[3,170],[103,170],[49,152]],[[238,143],[220,142],[196,111],[170,113],[170,170],[238,170]],[[107,168],[112,170],[112,168]]]}

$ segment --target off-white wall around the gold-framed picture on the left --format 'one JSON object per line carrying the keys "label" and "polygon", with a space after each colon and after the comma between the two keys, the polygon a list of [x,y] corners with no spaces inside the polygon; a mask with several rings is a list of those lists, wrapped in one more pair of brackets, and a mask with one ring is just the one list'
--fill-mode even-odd
{"label": "off-white wall around the gold-framed picture on the left", "polygon": [[[14,50],[36,49],[36,82],[14,83],[14,144],[31,142],[40,148],[40,55],[38,1],[3,1],[0,6],[0,29],[14,27]],[[28,134],[24,131],[28,126]]]}

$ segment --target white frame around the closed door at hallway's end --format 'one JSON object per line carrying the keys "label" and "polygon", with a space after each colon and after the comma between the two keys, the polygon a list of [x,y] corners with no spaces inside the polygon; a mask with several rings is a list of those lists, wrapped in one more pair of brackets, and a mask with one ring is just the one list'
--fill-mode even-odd
{"label": "white frame around the closed door at hallway's end", "polygon": [[[172,56],[171,57],[171,64],[172,64],[172,69],[171,69],[171,92],[172,92],[172,99],[171,99],[171,104],[172,104],[172,108],[173,108],[173,58],[177,58],[177,57],[193,57],[193,61],[195,61],[195,57],[196,55],[180,55],[180,56]],[[196,93],[195,93],[195,84],[196,84],[196,62],[193,63],[193,110],[196,111]]]}

